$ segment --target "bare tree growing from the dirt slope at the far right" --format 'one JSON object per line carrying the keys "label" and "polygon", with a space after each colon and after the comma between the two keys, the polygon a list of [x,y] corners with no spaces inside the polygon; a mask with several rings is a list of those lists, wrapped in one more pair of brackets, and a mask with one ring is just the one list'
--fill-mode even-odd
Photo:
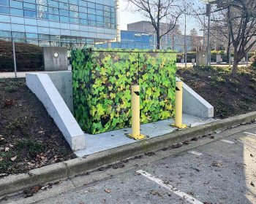
{"label": "bare tree growing from the dirt slope at the far right", "polygon": [[231,74],[236,75],[238,63],[256,44],[256,1],[219,0],[215,12],[227,13],[223,24],[228,26],[233,44],[234,61]]}

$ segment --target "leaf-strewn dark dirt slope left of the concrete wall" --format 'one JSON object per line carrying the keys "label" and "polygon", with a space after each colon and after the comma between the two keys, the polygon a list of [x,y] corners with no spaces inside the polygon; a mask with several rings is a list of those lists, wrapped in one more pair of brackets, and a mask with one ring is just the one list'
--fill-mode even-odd
{"label": "leaf-strewn dark dirt slope left of the concrete wall", "polygon": [[0,176],[72,158],[75,154],[25,79],[0,79]]}

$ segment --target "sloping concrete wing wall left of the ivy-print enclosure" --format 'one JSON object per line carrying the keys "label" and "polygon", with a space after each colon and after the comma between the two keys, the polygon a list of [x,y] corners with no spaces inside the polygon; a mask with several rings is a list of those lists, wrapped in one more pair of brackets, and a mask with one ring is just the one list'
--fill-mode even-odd
{"label": "sloping concrete wing wall left of the ivy-print enclosure", "polygon": [[[52,77],[57,79],[56,76],[52,75]],[[65,79],[65,77],[62,79]],[[59,85],[68,85],[68,82],[67,84],[65,82],[59,83]],[[48,74],[26,74],[26,85],[42,101],[48,114],[54,119],[72,150],[85,149],[83,130],[81,130],[78,122],[69,111],[67,104],[51,81],[50,76]],[[64,87],[62,88],[65,89]]]}

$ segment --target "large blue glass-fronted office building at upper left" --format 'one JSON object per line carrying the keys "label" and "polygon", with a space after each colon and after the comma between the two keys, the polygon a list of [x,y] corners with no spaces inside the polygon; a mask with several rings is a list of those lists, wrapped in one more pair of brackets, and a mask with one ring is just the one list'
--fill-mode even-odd
{"label": "large blue glass-fronted office building at upper left", "polygon": [[40,46],[116,38],[115,0],[0,0],[0,39]]}

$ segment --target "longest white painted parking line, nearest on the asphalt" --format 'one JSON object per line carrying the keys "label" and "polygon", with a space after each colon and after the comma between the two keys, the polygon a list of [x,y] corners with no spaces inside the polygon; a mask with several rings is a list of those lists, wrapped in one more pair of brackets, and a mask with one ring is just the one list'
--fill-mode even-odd
{"label": "longest white painted parking line, nearest on the asphalt", "polygon": [[196,200],[194,197],[187,195],[184,192],[181,192],[180,190],[176,189],[175,187],[172,187],[169,184],[165,184],[164,181],[152,176],[150,173],[146,173],[146,171],[144,171],[144,170],[137,170],[136,172],[140,173],[142,176],[145,176],[146,178],[150,179],[151,181],[154,181],[155,183],[159,184],[161,187],[168,189],[170,192],[173,192],[174,194],[184,198],[185,200],[189,201],[192,204],[203,204],[199,200]]}

